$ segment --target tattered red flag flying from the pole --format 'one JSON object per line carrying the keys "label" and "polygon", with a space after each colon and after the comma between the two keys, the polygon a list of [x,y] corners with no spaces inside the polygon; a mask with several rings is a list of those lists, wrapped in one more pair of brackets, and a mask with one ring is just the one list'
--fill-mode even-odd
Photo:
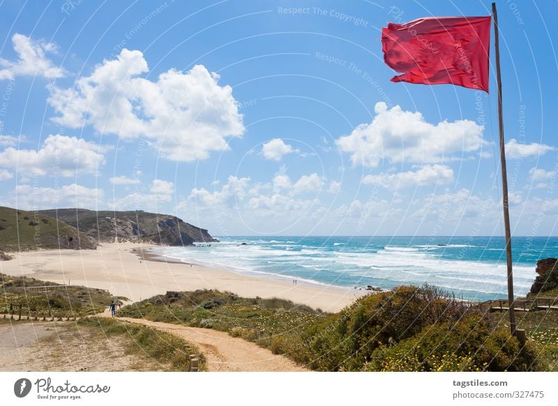
{"label": "tattered red flag flying from the pole", "polygon": [[382,29],[391,82],[456,84],[488,93],[489,17],[430,17]]}

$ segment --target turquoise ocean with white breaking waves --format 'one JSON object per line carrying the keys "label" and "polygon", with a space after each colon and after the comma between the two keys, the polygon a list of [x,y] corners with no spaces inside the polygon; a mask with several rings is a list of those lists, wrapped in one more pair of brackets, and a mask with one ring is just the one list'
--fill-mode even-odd
{"label": "turquoise ocean with white breaking waves", "polygon": [[[441,287],[462,299],[507,297],[503,237],[221,236],[211,246],[161,247],[160,255],[262,278],[384,290]],[[246,245],[241,245],[246,243]],[[525,296],[537,260],[558,257],[558,237],[514,237],[515,296]]]}

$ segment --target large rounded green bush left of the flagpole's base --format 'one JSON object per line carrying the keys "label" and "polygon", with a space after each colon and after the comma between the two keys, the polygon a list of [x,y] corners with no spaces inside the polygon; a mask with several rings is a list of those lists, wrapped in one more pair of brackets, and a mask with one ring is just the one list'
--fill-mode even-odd
{"label": "large rounded green bush left of the flagpole's base", "polygon": [[412,337],[425,326],[457,320],[468,311],[428,285],[363,296],[304,331],[299,358],[317,370],[361,370],[378,347]]}

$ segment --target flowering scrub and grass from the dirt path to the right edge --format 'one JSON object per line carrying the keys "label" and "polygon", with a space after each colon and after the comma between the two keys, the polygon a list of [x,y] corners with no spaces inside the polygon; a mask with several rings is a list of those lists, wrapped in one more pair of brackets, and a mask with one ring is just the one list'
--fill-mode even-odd
{"label": "flowering scrub and grass from the dirt path to the right edge", "polygon": [[215,290],[167,292],[118,314],[225,331],[315,370],[558,370],[558,312],[516,313],[522,350],[506,313],[468,309],[428,286],[364,296],[335,314]]}

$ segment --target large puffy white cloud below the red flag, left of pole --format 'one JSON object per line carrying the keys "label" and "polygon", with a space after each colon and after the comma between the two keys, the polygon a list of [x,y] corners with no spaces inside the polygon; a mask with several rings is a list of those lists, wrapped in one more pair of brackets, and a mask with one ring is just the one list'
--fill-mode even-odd
{"label": "large puffy white cloud below the red flag, left of pole", "polygon": [[[336,141],[341,151],[352,154],[353,165],[377,167],[382,160],[437,163],[459,159],[485,144],[484,127],[474,121],[441,121],[434,125],[420,112],[405,112],[399,106],[388,109],[383,102],[376,103],[375,112],[371,123],[361,124]],[[456,153],[459,157],[454,156]]]}

